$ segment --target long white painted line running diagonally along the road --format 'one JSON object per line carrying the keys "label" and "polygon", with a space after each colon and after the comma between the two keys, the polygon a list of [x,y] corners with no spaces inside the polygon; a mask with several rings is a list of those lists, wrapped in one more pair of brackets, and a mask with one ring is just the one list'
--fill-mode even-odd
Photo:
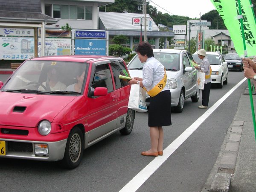
{"label": "long white painted line running diagonally along the road", "polygon": [[150,177],[172,153],[209,117],[222,102],[227,99],[247,78],[242,79],[236,86],[229,90],[221,99],[219,99],[211,108],[200,116],[192,125],[190,125],[176,140],[174,140],[164,151],[163,156],[154,158],[143,170],[141,170],[129,183],[127,183],[119,192],[136,192],[137,189]]}

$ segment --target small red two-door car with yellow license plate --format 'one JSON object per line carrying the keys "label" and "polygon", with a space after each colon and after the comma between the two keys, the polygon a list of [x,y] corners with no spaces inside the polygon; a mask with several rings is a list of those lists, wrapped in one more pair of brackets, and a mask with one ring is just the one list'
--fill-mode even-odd
{"label": "small red two-door car with yellow license plate", "polygon": [[[122,58],[64,55],[24,61],[0,82],[0,158],[79,165],[85,148],[130,134],[129,76]],[[1,84],[2,83],[2,84]]]}

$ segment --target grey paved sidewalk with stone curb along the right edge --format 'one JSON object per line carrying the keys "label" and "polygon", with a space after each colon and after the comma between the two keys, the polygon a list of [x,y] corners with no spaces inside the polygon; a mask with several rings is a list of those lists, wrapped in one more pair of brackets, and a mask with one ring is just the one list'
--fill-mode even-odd
{"label": "grey paved sidewalk with stone curb along the right edge", "polygon": [[[253,95],[256,108],[256,96]],[[250,96],[244,91],[202,192],[255,192],[256,139]]]}

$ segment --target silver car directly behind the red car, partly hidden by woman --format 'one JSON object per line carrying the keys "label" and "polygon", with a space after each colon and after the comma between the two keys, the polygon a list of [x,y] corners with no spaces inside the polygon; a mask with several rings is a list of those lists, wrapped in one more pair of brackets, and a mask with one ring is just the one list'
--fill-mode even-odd
{"label": "silver car directly behind the red car, partly hidden by woman", "polygon": [[[180,49],[153,49],[154,58],[160,61],[166,69],[167,86],[172,94],[172,107],[177,113],[181,113],[185,99],[191,97],[192,102],[198,102],[199,89],[196,87],[197,70],[193,67],[192,55],[186,50]],[[128,64],[131,77],[142,78],[142,68],[138,55]],[[149,96],[146,99],[149,106]]]}

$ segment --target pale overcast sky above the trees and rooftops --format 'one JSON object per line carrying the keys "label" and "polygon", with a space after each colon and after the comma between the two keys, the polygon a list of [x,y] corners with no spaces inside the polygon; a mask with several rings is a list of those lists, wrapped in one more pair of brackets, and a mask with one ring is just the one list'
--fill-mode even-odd
{"label": "pale overcast sky above the trees and rooftops", "polygon": [[190,18],[200,18],[200,13],[204,15],[215,9],[210,0],[149,0],[149,2],[151,6],[156,7],[157,11],[162,13]]}

